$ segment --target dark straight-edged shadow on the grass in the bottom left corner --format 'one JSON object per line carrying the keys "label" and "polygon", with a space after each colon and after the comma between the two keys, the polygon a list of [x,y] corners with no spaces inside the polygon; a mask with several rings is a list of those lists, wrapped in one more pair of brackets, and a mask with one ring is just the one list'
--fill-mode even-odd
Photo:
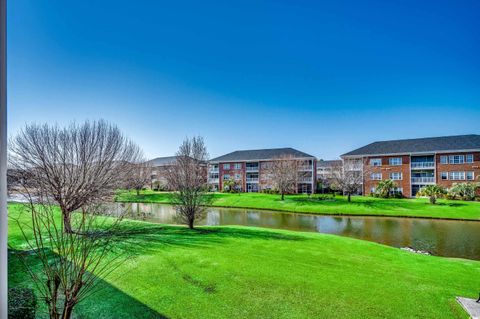
{"label": "dark straight-edged shadow on the grass in the bottom left corner", "polygon": [[[9,250],[8,285],[10,288],[19,286],[34,288],[35,284],[18,256],[19,253],[25,254],[25,252]],[[34,254],[27,255],[25,258],[25,262],[31,269],[40,271],[40,261]],[[96,280],[95,292],[76,306],[74,318],[168,318],[108,282],[100,278]],[[36,317],[48,318],[45,303],[40,299],[38,292],[36,295],[39,305]]]}

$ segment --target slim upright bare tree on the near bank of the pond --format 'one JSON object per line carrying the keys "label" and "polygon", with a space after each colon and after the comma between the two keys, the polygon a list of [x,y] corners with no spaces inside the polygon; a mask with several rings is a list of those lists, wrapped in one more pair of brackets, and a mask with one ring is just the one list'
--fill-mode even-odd
{"label": "slim upright bare tree on the near bank of the pond", "polygon": [[208,192],[207,160],[203,138],[186,138],[176,154],[175,163],[166,172],[168,187],[173,190],[171,201],[190,229],[194,228],[195,220],[203,217],[212,200]]}

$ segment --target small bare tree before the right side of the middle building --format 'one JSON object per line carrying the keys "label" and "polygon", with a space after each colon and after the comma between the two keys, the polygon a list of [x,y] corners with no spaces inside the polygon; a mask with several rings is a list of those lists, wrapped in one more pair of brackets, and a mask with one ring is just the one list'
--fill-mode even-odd
{"label": "small bare tree before the right side of the middle building", "polygon": [[299,165],[298,160],[292,156],[280,156],[267,164],[266,173],[282,195],[282,201],[285,194],[294,193],[296,190]]}

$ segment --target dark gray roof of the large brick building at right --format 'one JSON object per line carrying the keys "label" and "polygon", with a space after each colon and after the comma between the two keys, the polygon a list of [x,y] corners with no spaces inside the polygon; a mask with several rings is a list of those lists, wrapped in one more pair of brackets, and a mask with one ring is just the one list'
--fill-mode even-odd
{"label": "dark gray roof of the large brick building at right", "polygon": [[480,135],[457,135],[380,141],[360,147],[344,156],[409,154],[480,150]]}

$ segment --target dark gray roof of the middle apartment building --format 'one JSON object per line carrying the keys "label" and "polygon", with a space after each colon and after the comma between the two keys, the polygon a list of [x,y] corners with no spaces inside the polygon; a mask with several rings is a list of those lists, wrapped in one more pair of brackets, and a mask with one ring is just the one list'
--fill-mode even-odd
{"label": "dark gray roof of the middle apartment building", "polygon": [[292,156],[295,158],[305,158],[314,156],[293,148],[271,148],[262,150],[242,150],[228,153],[211,159],[212,162],[233,162],[233,161],[254,161],[270,160],[282,156]]}

